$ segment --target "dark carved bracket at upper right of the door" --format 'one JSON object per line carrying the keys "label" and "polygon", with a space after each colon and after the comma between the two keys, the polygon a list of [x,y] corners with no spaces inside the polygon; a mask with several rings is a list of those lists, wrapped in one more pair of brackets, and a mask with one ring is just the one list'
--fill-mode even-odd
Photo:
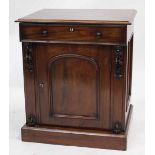
{"label": "dark carved bracket at upper right of the door", "polygon": [[114,48],[114,76],[120,79],[123,76],[123,50],[121,46]]}

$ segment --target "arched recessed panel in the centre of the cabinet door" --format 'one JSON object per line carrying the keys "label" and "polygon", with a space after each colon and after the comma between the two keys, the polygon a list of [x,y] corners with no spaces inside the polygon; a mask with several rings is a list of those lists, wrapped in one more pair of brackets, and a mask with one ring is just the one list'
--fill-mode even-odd
{"label": "arched recessed panel in the centre of the cabinet door", "polygon": [[85,56],[61,55],[49,63],[51,114],[55,117],[96,119],[97,63]]}

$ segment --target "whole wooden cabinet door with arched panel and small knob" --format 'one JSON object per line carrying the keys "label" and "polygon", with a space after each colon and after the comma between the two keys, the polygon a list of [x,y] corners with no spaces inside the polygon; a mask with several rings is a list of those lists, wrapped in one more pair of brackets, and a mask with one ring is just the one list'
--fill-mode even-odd
{"label": "whole wooden cabinet door with arched panel and small knob", "polygon": [[35,43],[40,124],[110,128],[111,47]]}

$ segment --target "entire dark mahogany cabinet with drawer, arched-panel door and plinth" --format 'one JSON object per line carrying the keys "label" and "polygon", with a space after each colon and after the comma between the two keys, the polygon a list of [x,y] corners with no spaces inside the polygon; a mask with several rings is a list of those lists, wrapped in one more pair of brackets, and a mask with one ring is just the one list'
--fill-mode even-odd
{"label": "entire dark mahogany cabinet with drawer, arched-panel door and plinth", "polygon": [[50,10],[20,18],[22,140],[125,150],[135,10]]}

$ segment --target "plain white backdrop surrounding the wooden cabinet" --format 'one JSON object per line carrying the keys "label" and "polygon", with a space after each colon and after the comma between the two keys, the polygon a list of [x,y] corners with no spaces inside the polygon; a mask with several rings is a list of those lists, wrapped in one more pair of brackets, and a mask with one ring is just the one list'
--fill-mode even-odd
{"label": "plain white backdrop surrounding the wooden cabinet", "polygon": [[[25,122],[21,43],[17,18],[43,8],[55,9],[136,9],[133,59],[132,103],[134,115],[130,130],[128,151],[109,151],[80,147],[23,143],[20,127]],[[145,30],[144,0],[10,0],[10,154],[144,154],[144,68]]]}

